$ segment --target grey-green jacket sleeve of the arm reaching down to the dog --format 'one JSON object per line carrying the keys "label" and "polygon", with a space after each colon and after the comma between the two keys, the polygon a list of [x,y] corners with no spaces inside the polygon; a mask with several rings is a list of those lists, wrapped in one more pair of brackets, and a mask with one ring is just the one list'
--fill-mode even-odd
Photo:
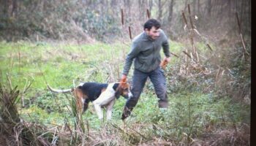
{"label": "grey-green jacket sleeve of the arm reaching down to the dog", "polygon": [[140,53],[140,49],[138,47],[138,43],[132,42],[132,48],[125,60],[123,74],[127,75],[129,73],[129,69],[132,66],[132,61],[139,53]]}

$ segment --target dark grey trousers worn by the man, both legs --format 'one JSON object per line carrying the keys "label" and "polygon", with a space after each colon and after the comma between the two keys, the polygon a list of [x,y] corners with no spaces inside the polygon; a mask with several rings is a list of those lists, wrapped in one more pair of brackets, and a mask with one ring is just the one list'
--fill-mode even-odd
{"label": "dark grey trousers worn by the man, both legs", "polygon": [[167,102],[167,88],[166,88],[166,80],[165,80],[165,74],[162,71],[160,67],[155,69],[152,72],[140,72],[137,69],[135,69],[132,77],[132,98],[127,100],[127,103],[124,107],[124,112],[122,115],[122,119],[127,118],[130,113],[132,112],[133,108],[138,102],[138,99],[140,98],[140,93],[143,91],[143,88],[145,86],[147,78],[150,78],[151,82],[154,85],[154,91],[157,94],[158,106],[160,108],[167,108],[168,102]]}

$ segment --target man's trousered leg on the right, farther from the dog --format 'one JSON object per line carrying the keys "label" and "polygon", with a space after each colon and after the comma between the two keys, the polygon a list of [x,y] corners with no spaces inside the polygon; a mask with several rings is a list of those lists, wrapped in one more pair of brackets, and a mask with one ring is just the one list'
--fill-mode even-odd
{"label": "man's trousered leg on the right, farther from the dog", "polygon": [[150,72],[149,77],[154,85],[154,91],[157,94],[157,98],[159,99],[159,108],[167,108],[167,87],[164,72],[162,71],[162,69],[157,68],[154,71]]}

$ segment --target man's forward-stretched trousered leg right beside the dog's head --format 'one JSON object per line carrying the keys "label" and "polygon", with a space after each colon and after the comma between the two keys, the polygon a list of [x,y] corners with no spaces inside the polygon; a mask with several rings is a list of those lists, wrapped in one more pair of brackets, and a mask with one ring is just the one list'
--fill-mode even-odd
{"label": "man's forward-stretched trousered leg right beside the dog's head", "polygon": [[147,77],[148,77],[148,74],[140,72],[135,69],[132,77],[132,90],[131,90],[133,96],[132,98],[128,99],[127,103],[125,104],[124,112],[121,118],[122,120],[124,120],[131,114],[133,107],[135,107],[135,105],[137,104],[138,99],[140,98],[140,93],[143,91]]}

